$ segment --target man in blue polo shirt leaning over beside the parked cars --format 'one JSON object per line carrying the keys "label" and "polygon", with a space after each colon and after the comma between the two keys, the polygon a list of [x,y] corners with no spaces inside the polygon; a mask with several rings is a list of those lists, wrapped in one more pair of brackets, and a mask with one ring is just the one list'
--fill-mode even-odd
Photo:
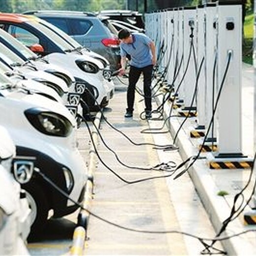
{"label": "man in blue polo shirt leaning over beside the parked cars", "polygon": [[153,66],[156,64],[156,47],[154,42],[143,33],[130,33],[123,29],[118,33],[121,40],[121,68],[125,73],[127,55],[130,56],[129,85],[127,91],[127,111],[125,117],[132,117],[135,86],[143,73],[143,90],[146,118],[151,118],[151,80]]}

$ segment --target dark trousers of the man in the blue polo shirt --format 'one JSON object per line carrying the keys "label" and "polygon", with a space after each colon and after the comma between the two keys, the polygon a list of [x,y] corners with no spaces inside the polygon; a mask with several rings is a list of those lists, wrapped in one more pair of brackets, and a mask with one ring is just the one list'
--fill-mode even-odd
{"label": "dark trousers of the man in the blue polo shirt", "polygon": [[135,96],[135,86],[139,80],[140,74],[143,73],[143,91],[145,100],[145,110],[151,111],[151,81],[152,81],[152,70],[153,65],[145,67],[135,67],[130,66],[129,71],[129,85],[127,90],[127,111],[133,111],[134,96]]}

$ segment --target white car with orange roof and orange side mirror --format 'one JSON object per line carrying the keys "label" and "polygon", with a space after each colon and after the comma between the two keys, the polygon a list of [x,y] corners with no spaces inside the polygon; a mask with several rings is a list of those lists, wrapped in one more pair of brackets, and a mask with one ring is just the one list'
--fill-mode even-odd
{"label": "white car with orange roof and orange side mirror", "polygon": [[68,69],[77,82],[87,84],[81,98],[91,112],[107,106],[111,91],[108,81],[102,75],[104,69],[102,62],[77,52],[62,37],[40,24],[38,20],[40,19],[21,14],[0,14],[2,29],[37,54],[44,55],[44,60]]}

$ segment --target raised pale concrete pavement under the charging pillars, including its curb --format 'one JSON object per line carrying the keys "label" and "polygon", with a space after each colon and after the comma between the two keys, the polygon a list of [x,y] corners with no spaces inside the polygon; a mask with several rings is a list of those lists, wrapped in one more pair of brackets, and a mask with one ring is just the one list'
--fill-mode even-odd
{"label": "raised pale concrete pavement under the charging pillars, including its curb", "polygon": [[[253,137],[253,116],[254,116],[254,70],[253,67],[243,64],[242,77],[242,141],[243,153],[248,158],[253,158],[254,137]],[[157,98],[160,104],[161,98]],[[165,117],[168,116],[170,104],[165,105]],[[178,110],[173,111],[173,115]],[[170,121],[170,130],[172,136],[180,128],[184,117],[172,117]],[[153,125],[153,121],[150,122]],[[176,140],[176,146],[179,147],[179,153],[183,160],[195,156],[198,153],[198,145],[200,140],[190,137],[190,131],[197,127],[196,117],[189,118]],[[228,141],[227,141],[228,143]],[[161,153],[160,153],[161,154]],[[201,157],[207,157],[211,153],[201,153]],[[161,157],[161,156],[160,156]],[[209,156],[208,156],[209,158]],[[202,203],[208,213],[208,216],[218,233],[223,222],[228,218],[233,206],[234,196],[240,192],[248,181],[250,169],[209,169],[208,160],[200,159],[189,169],[189,175],[193,185],[198,192]],[[255,173],[253,175],[255,180]],[[179,179],[183,179],[181,176]],[[178,179],[177,179],[178,180]],[[177,180],[168,181],[170,187]],[[249,198],[253,190],[253,182],[250,183],[248,189],[243,193],[244,200]],[[226,195],[220,196],[219,192],[227,192]],[[241,203],[242,196],[236,204],[236,209]],[[242,203],[244,205],[244,202]],[[224,236],[234,235],[248,229],[254,229],[254,226],[245,226],[243,223],[243,211],[237,218],[234,218],[226,227]],[[256,232],[248,232],[246,234],[226,239],[223,241],[224,250],[228,255],[255,255],[256,254]]]}

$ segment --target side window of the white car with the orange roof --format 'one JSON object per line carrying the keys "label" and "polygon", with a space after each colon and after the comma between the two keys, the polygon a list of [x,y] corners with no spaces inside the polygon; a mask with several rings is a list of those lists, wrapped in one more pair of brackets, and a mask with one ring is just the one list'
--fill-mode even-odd
{"label": "side window of the white car with the orange roof", "polygon": [[18,26],[10,25],[7,32],[26,46],[39,43],[39,39],[35,35]]}

